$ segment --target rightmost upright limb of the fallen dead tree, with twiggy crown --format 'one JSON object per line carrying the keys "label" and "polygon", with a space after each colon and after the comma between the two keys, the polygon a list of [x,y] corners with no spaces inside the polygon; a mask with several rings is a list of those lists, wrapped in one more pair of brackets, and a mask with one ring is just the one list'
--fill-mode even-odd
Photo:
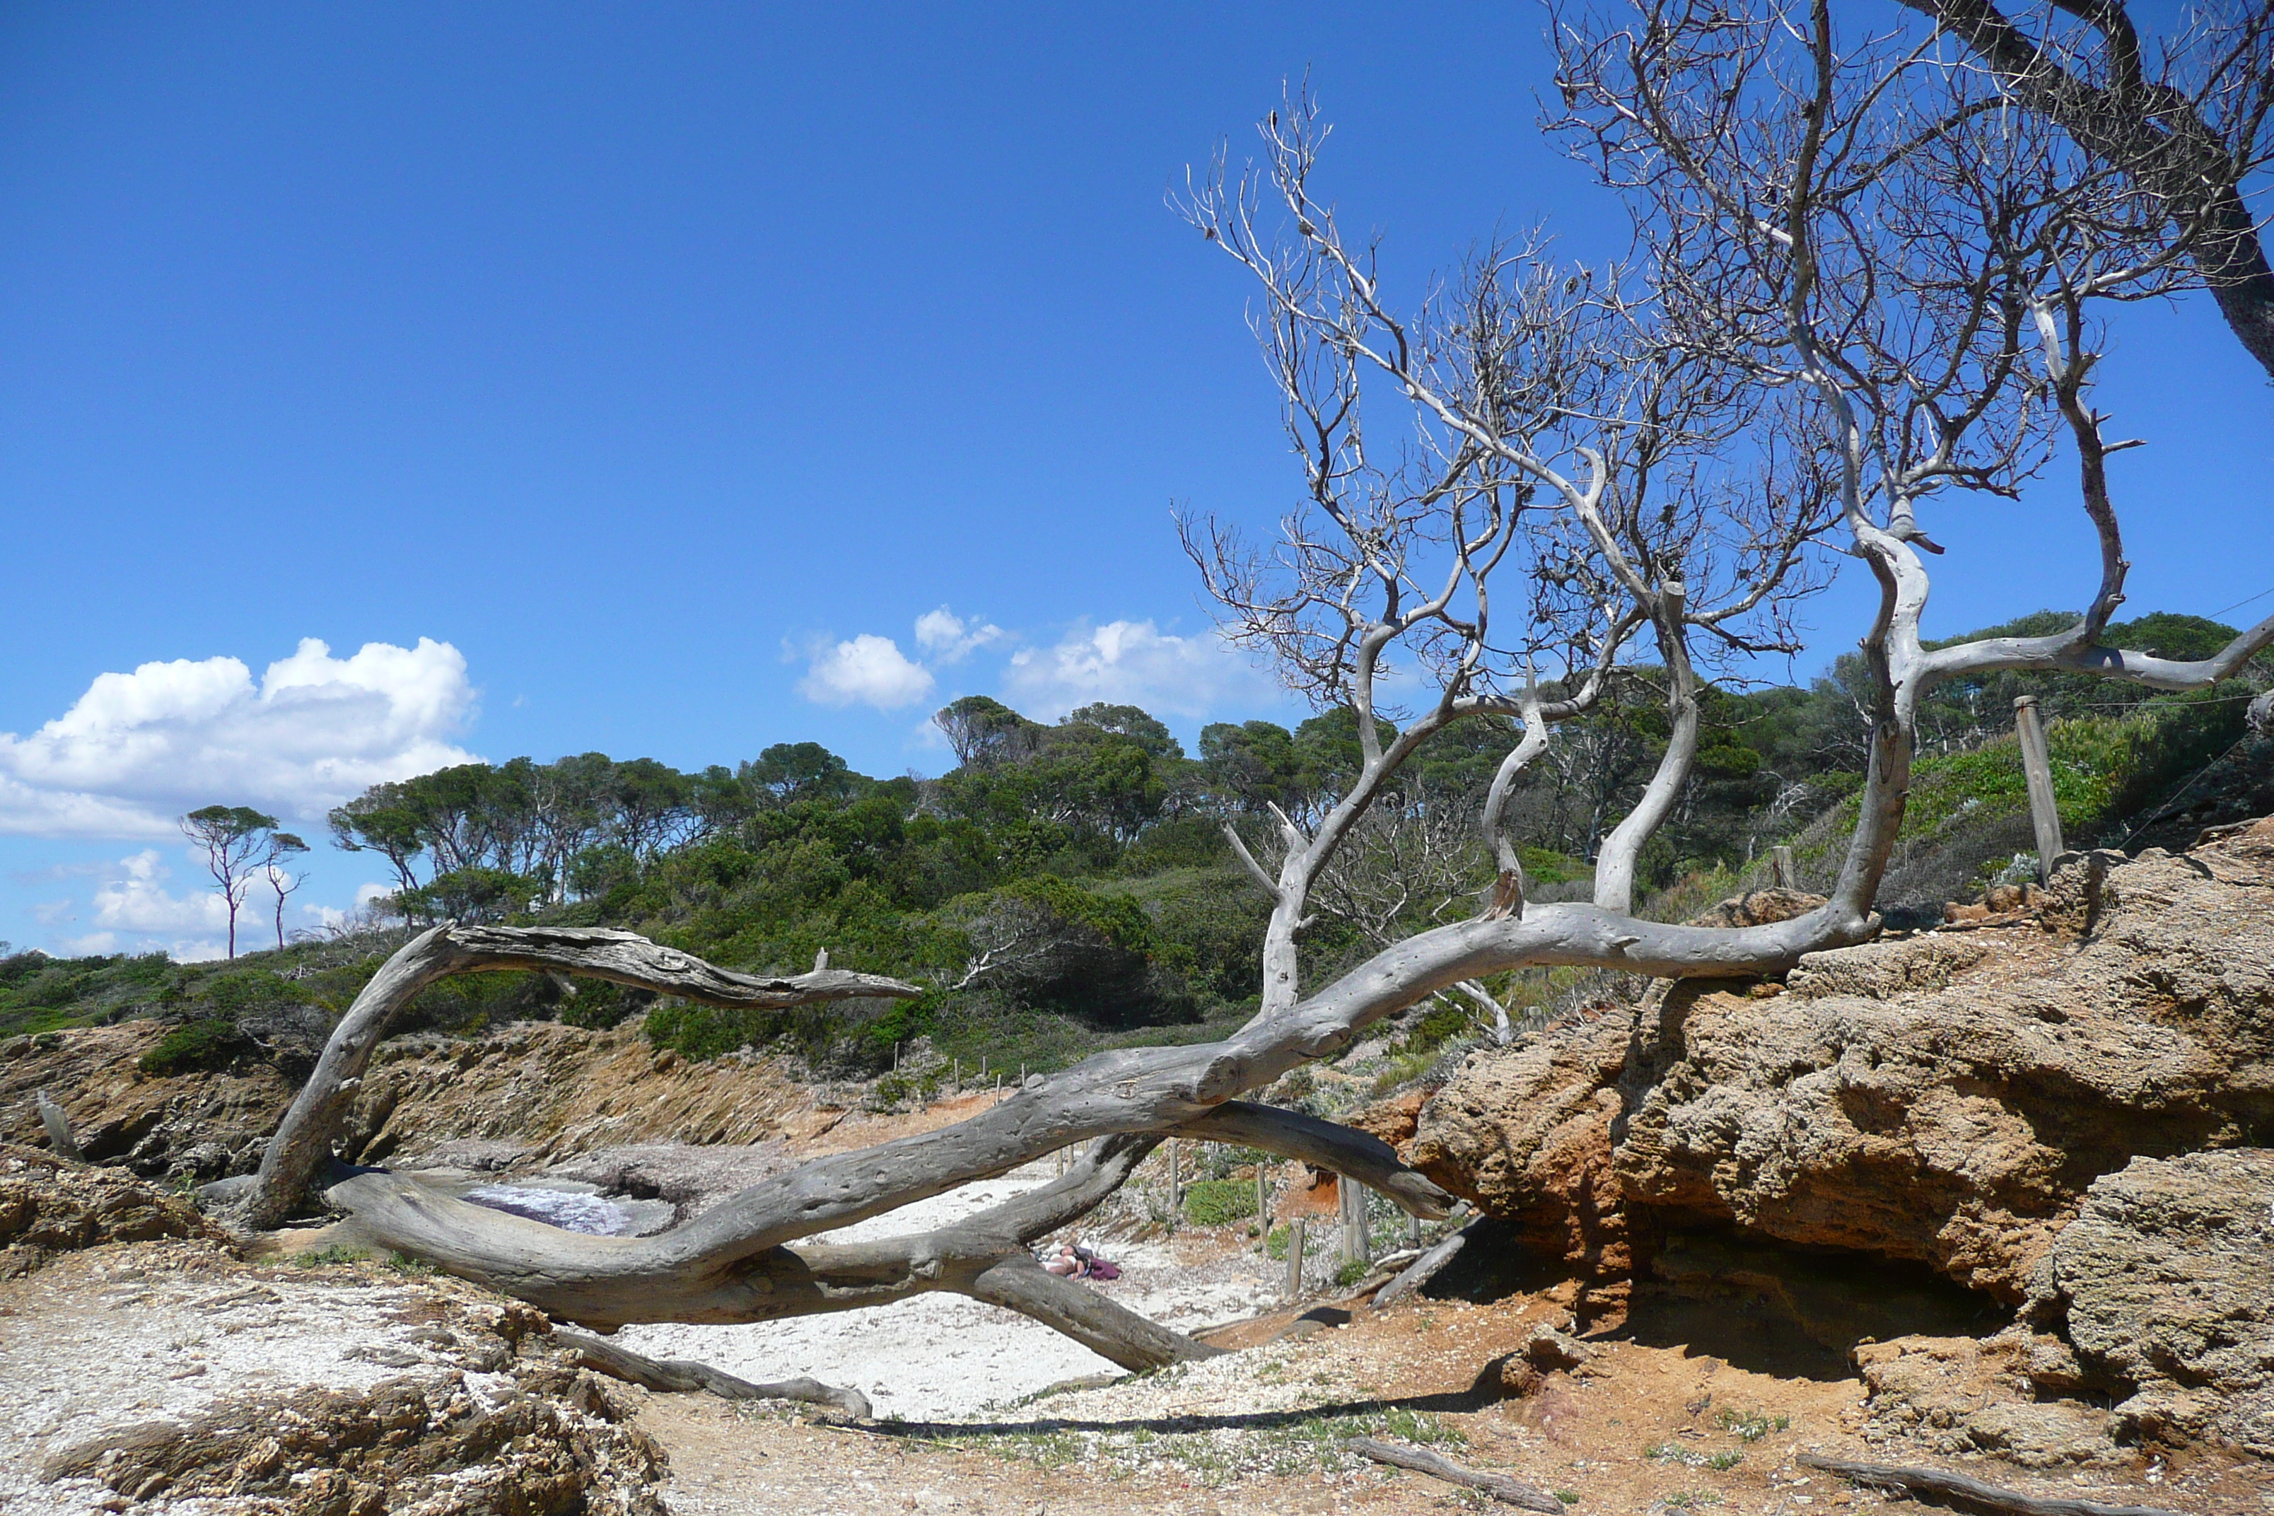
{"label": "rightmost upright limb of the fallen dead tree, with twiggy crown", "polygon": [[[2135,177],[2031,111],[2001,109],[1935,39],[1844,39],[1828,0],[1560,11],[1560,123],[1637,207],[1692,348],[1801,400],[1837,470],[1849,552],[1881,589],[1862,641],[1872,755],[1835,893],[1878,880],[1901,825],[1917,702],[1999,668],[2199,689],[2274,641],[2274,618],[2192,664],[2099,636],[2126,559],[2090,409],[2090,311],[2185,286],[2194,243]],[[2076,627],[1928,650],[1933,498],[2012,500],[2076,450],[2101,584]],[[1999,505],[1997,509],[2010,509]]]}

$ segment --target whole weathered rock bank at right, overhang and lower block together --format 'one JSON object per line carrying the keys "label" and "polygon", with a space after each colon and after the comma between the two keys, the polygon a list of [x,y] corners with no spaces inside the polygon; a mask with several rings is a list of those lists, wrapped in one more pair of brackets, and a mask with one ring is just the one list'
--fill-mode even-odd
{"label": "whole weathered rock bank at right, overhang and lower block together", "polygon": [[[1817,952],[1785,984],[1662,984],[1480,1050],[1408,1152],[1571,1266],[1594,1323],[1669,1234],[1906,1259],[2074,1350],[2006,1375],[2028,1393],[2090,1384],[2117,1436],[2274,1452],[2269,1055],[2274,818],[2074,859],[2033,911]],[[1901,1357],[1865,1368],[1892,1384]]]}

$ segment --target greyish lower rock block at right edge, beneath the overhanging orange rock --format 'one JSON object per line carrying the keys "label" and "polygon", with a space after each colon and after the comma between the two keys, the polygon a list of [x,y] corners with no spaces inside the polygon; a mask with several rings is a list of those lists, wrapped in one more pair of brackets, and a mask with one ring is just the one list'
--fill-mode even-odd
{"label": "greyish lower rock block at right edge, beneath the overhanging orange rock", "polygon": [[2133,1159],[2053,1241],[2033,1309],[2097,1377],[2117,1423],[2274,1457],[2274,1152]]}

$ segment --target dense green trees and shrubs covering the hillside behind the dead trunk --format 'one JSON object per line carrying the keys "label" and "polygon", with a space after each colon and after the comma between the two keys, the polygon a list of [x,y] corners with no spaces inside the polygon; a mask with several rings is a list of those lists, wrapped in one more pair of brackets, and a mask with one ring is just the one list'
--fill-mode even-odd
{"label": "dense green trees and shrubs covering the hillside behind the dead trunk", "polygon": [[[2047,611],[2008,630],[2067,620]],[[2226,636],[2183,616],[2110,630],[2117,645],[2174,657],[2199,657]],[[2158,811],[2176,814],[2174,796],[2192,805],[2190,793],[2267,784],[2260,771],[2274,755],[2242,739],[2242,705],[2274,675],[2254,673],[2192,695],[2083,675],[2031,680],[2072,843],[2124,841]],[[1649,914],[1683,916],[1762,882],[1760,859],[1776,841],[1794,841],[1803,873],[1828,880],[1862,777],[1856,680],[1842,659],[1810,689],[1708,691],[1696,771],[1644,857]],[[2010,736],[2019,689],[1999,675],[1935,691],[1922,714],[1906,852],[1883,898],[1937,905],[1978,889],[2028,846]],[[748,971],[794,973],[828,950],[837,966],[928,986],[914,1002],[714,1011],[605,984],[564,993],[546,977],[468,975],[414,1009],[414,1025],[443,1030],[523,1016],[605,1027],[641,1014],[655,1041],[691,1057],[762,1046],[882,1073],[923,1046],[969,1075],[982,1059],[994,1071],[1055,1066],[1103,1046],[1219,1036],[1253,1009],[1264,898],[1223,825],[1269,857],[1269,807],[1296,821],[1330,807],[1358,766],[1346,711],[1294,730],[1210,725],[1198,755],[1135,707],[1037,723],[966,698],[939,725],[957,766],[937,780],[873,780],[816,743],[782,743],[732,771],[582,755],[382,784],[334,811],[332,832],[387,859],[398,925],[236,964],[0,957],[0,1034],[161,1016],[177,1032],[152,1050],[152,1071],[211,1066],[273,1048],[280,1027],[321,1027],[405,930],[439,918],[630,927]],[[1649,668],[1630,670],[1599,714],[1558,730],[1510,807],[1530,843],[1537,898],[1585,891],[1585,859],[1662,741]],[[1508,743],[1505,723],[1480,720],[1424,748],[1348,843],[1348,882],[1321,891],[1321,918],[1305,934],[1312,982],[1385,936],[1471,909],[1467,896],[1487,877],[1474,816]],[[1433,846],[1417,846],[1424,834]],[[1369,893],[1380,880],[1396,889]],[[1376,909],[1383,898],[1392,905]],[[1533,971],[1489,989],[1521,1018],[1571,984],[1571,973]],[[1419,1073],[1435,1048],[1476,1025],[1464,1002],[1417,1007],[1392,1073]],[[898,1082],[921,1093],[941,1073],[926,1059],[901,1068]]]}

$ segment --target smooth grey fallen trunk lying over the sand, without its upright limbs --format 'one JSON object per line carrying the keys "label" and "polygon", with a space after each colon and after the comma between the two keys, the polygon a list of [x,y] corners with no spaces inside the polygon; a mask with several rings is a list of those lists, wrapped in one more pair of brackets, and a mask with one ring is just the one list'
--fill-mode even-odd
{"label": "smooth grey fallen trunk lying over the sand, without its upright limbs", "polygon": [[[1046,1273],[1028,1248],[1103,1202],[1164,1136],[1235,1141],[1333,1168],[1380,1189],[1408,1214],[1439,1218],[1453,1198],[1399,1164],[1380,1139],[1233,1096],[1333,1055],[1373,1021],[1480,973],[1615,961],[1653,975],[1756,975],[1862,930],[1862,918],[1837,905],[1744,930],[1633,921],[1592,905],[1542,905],[1521,918],[1437,927],[1226,1041],[1114,1050],[1035,1075],[964,1123],[816,1159],[657,1236],[571,1234],[384,1173],[346,1177],[323,1198],[350,1211],[375,1246],[594,1327],[775,1321],[955,1291],[1044,1321],[1123,1368],[1157,1368],[1214,1350]],[[628,932],[434,927],[389,959],[332,1034],[268,1143],[246,1218],[273,1225],[330,1175],[355,1082],[400,1007],[448,973],[498,968],[594,975],[714,1005],[916,993],[839,971],[750,980]],[[1076,1143],[1087,1148],[1062,1177],[955,1225],[862,1243],[800,1241]]]}

